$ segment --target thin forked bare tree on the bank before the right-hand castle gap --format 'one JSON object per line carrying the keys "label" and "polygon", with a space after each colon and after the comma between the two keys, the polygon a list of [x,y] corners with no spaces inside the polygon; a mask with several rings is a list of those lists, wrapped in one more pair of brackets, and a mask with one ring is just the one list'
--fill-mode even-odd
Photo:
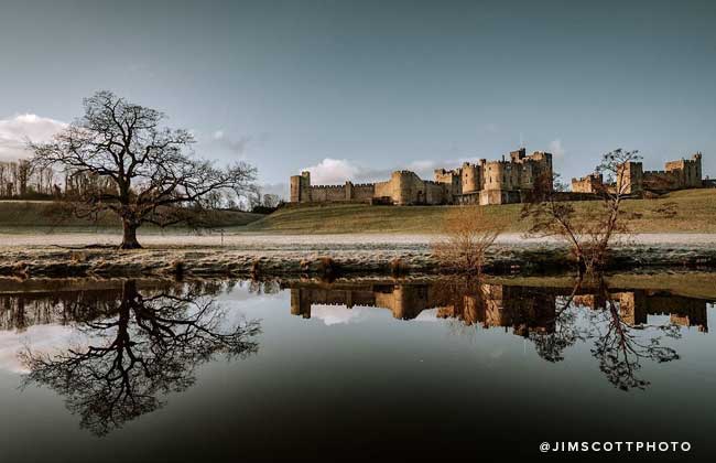
{"label": "thin forked bare tree on the bank before the right-hand castle gap", "polygon": [[596,168],[605,177],[597,191],[600,202],[596,207],[585,204],[582,213],[564,201],[566,186],[558,176],[540,179],[522,207],[522,218],[531,220],[528,235],[553,236],[568,243],[581,273],[604,266],[614,239],[629,232],[622,204],[632,186],[627,166],[640,159],[637,153],[618,149],[603,155]]}

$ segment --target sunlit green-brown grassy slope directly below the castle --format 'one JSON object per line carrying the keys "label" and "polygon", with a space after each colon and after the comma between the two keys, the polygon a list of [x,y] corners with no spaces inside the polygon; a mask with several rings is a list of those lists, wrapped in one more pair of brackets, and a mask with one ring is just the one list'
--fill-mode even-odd
{"label": "sunlit green-brown grassy slope directly below the castle", "polygon": [[[597,202],[576,202],[578,211],[599,207]],[[286,207],[246,227],[251,232],[273,233],[437,233],[446,212],[454,206],[369,206],[319,205]],[[634,232],[716,233],[716,189],[687,190],[658,200],[630,200],[625,208],[636,217]],[[676,214],[664,217],[660,209]],[[486,206],[488,217],[505,217],[510,232],[522,232],[520,204]]]}

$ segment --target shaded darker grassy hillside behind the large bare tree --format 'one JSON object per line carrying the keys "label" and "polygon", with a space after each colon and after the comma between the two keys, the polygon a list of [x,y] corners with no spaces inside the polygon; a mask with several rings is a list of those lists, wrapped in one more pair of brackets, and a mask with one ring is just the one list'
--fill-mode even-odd
{"label": "shaded darker grassy hillside behind the large bare tree", "polygon": [[[221,227],[243,226],[262,218],[263,215],[243,212],[220,213]],[[48,201],[0,201],[0,232],[25,233],[33,228],[45,230],[56,228],[58,232],[85,232],[95,229],[121,229],[119,218],[111,213],[99,217],[95,223],[80,219],[66,213]],[[142,227],[147,232],[152,227]]]}

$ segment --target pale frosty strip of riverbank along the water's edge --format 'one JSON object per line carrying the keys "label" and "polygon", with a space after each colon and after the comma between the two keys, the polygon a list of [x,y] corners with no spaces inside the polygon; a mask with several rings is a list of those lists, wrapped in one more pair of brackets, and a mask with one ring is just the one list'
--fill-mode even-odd
{"label": "pale frosty strip of riverbank along the water's edge", "polygon": [[[0,274],[83,276],[327,276],[449,272],[433,258],[428,235],[187,235],[145,236],[144,249],[119,250],[113,235],[0,235]],[[47,246],[47,243],[55,244]],[[85,247],[85,246],[90,247]],[[486,258],[492,274],[568,269],[568,248],[552,239],[499,237]],[[607,270],[716,270],[716,235],[634,235],[615,248]]]}

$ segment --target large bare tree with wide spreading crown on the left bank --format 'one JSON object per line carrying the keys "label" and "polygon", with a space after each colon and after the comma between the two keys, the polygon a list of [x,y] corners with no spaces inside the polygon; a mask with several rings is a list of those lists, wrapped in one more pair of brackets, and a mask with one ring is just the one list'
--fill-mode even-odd
{"label": "large bare tree with wide spreading crown on the left bank", "polygon": [[[30,142],[35,166],[61,166],[93,182],[67,195],[73,211],[93,217],[104,211],[122,220],[121,248],[139,248],[144,223],[167,226],[191,222],[216,207],[217,197],[242,197],[252,191],[256,169],[238,162],[226,169],[199,160],[186,130],[162,127],[165,116],[110,91],[84,100],[85,115],[48,143]],[[98,179],[94,179],[98,177]],[[220,201],[219,201],[220,202]]]}

